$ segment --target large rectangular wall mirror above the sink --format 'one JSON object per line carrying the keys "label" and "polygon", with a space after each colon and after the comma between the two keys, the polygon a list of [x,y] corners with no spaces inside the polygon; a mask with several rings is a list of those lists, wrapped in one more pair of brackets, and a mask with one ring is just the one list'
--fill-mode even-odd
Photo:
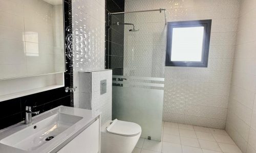
{"label": "large rectangular wall mirror above the sink", "polygon": [[65,72],[62,0],[1,1],[0,80]]}

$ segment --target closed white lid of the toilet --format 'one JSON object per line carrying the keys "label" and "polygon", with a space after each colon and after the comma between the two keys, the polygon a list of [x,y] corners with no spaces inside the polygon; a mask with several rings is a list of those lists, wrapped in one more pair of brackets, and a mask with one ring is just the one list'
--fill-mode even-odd
{"label": "closed white lid of the toilet", "polygon": [[141,132],[140,125],[133,122],[126,122],[121,120],[113,120],[112,124],[106,127],[109,133],[122,135],[122,136],[135,136]]}

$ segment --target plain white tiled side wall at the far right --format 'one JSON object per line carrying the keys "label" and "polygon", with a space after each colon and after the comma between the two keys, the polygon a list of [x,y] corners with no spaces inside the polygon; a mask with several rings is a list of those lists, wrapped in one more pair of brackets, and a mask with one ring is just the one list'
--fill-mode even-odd
{"label": "plain white tiled side wall at the far right", "polygon": [[241,1],[226,123],[228,134],[242,152],[255,152],[255,9],[255,1]]}

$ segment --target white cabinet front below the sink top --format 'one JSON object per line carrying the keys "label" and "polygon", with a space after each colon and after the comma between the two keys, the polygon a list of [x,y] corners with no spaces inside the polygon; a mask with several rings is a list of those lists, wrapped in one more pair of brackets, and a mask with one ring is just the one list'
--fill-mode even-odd
{"label": "white cabinet front below the sink top", "polygon": [[81,132],[58,153],[97,153],[100,152],[100,124],[99,119],[93,122],[86,130]]}

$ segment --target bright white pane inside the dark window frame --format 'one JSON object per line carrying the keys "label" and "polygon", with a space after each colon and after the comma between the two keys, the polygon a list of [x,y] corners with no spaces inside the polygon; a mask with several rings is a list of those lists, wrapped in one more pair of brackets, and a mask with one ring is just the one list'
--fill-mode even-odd
{"label": "bright white pane inside the dark window frame", "polygon": [[204,27],[174,28],[171,61],[201,62]]}

